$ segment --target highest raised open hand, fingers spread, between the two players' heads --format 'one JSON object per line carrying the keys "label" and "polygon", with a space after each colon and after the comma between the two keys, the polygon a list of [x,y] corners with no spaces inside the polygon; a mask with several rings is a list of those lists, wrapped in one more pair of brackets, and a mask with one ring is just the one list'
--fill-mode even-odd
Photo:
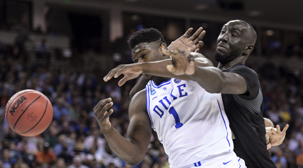
{"label": "highest raised open hand, fingers spread, between the two players' heads", "polygon": [[[191,52],[198,52],[201,47],[204,46],[203,41],[201,41],[205,35],[205,31],[202,31],[203,28],[200,27],[194,35],[191,37],[187,38],[188,35],[191,33],[193,28],[189,28],[185,34],[183,34],[181,37],[179,37],[177,40],[174,41],[175,46],[179,50],[187,50],[188,48],[190,49]],[[171,45],[169,45],[168,50],[171,49]]]}

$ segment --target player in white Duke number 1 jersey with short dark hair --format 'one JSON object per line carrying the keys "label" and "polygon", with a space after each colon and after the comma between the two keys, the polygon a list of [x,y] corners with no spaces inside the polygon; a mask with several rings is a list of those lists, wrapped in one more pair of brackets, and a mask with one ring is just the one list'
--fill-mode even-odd
{"label": "player in white Duke number 1 jersey with short dark hair", "polygon": [[[170,57],[161,53],[161,48],[166,49],[166,44],[156,29],[136,32],[129,45],[135,63],[158,61],[153,62],[157,67],[171,63]],[[196,66],[212,64],[201,54],[195,53],[192,57],[194,55]],[[123,81],[135,78],[140,73],[150,80],[146,88],[130,102],[127,139],[111,127],[108,117],[113,110],[107,111],[113,104],[110,98],[100,101],[94,108],[110,148],[119,157],[130,165],[140,163],[151,138],[150,128],[153,128],[168,154],[171,168],[245,167],[244,161],[233,152],[231,131],[221,94],[206,92],[192,80],[194,74],[190,74],[191,77],[186,74],[177,76],[165,70],[159,73],[166,77],[159,77],[146,75],[138,68],[137,73],[124,72],[125,77],[119,82],[121,86]],[[104,78],[105,81],[112,78],[113,73],[117,73],[115,69]]]}

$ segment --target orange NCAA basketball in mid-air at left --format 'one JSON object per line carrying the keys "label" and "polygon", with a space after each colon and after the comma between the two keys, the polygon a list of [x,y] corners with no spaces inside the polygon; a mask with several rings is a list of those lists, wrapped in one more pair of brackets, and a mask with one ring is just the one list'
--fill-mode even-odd
{"label": "orange NCAA basketball in mid-air at left", "polygon": [[23,136],[35,136],[45,131],[53,118],[48,98],[36,90],[22,90],[9,99],[5,118],[12,130]]}

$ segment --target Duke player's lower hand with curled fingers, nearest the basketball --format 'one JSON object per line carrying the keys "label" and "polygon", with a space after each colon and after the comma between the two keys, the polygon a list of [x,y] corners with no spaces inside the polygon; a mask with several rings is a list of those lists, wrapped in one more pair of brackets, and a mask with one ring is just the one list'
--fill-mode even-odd
{"label": "Duke player's lower hand with curled fingers, nearest the basketball", "polygon": [[108,108],[112,105],[112,98],[108,98],[98,102],[94,108],[95,118],[103,132],[111,129],[112,124],[109,122],[109,116],[113,113],[113,109],[108,111]]}

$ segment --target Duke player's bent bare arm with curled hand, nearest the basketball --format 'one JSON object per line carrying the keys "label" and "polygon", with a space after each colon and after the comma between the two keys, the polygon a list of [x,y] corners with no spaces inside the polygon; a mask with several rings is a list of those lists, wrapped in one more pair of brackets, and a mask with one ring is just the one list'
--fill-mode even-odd
{"label": "Duke player's bent bare arm with curled hand, nearest the basketball", "polygon": [[131,166],[139,164],[151,139],[151,123],[145,107],[145,91],[138,92],[129,105],[129,126],[124,138],[109,122],[113,110],[111,98],[101,100],[94,108],[95,117],[111,150]]}

